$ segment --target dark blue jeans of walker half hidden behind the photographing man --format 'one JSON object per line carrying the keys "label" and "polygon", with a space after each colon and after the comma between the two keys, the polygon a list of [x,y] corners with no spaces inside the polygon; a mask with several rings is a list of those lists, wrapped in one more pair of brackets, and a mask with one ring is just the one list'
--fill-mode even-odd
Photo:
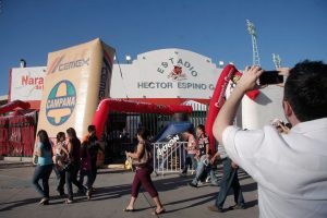
{"label": "dark blue jeans of walker half hidden behind the photographing man", "polygon": [[216,198],[216,207],[222,209],[228,191],[232,187],[234,191],[234,202],[238,205],[244,205],[244,198],[238,177],[238,169],[231,167],[231,159],[222,160],[223,174],[220,181],[220,191]]}

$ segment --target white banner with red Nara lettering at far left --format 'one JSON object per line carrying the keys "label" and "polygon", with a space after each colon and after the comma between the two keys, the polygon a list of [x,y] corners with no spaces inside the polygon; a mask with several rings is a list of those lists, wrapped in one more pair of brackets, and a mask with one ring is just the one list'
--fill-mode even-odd
{"label": "white banner with red Nara lettering at far left", "polygon": [[38,109],[46,74],[46,66],[11,69],[9,101],[28,101],[32,109]]}

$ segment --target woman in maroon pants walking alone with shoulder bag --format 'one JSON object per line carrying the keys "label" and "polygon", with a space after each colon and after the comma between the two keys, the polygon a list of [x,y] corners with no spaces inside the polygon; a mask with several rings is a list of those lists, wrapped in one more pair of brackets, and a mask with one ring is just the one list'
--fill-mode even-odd
{"label": "woman in maroon pants walking alone with shoulder bag", "polygon": [[145,129],[137,130],[137,147],[134,153],[126,153],[128,157],[133,158],[133,165],[136,167],[136,172],[134,175],[132,184],[132,196],[128,207],[124,211],[134,211],[134,204],[137,198],[141,185],[153,197],[157,208],[153,213],[154,215],[159,215],[165,213],[165,208],[159,199],[158,192],[154,186],[150,174],[154,168],[150,166],[152,162],[152,152],[149,148],[149,143],[147,142],[148,133]]}

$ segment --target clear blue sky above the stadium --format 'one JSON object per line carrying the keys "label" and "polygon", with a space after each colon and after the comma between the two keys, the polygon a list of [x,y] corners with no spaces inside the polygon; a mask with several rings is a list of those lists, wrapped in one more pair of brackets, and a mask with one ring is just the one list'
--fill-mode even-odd
{"label": "clear blue sky above the stadium", "polygon": [[327,62],[326,0],[0,0],[0,95],[24,58],[46,65],[50,51],[100,37],[125,55],[161,48],[198,52],[214,62],[252,63],[245,20],[257,29],[262,66]]}

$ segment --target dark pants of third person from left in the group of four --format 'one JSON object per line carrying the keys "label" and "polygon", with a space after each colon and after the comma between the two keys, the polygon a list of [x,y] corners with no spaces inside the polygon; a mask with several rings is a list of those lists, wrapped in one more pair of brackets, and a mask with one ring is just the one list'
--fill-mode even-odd
{"label": "dark pants of third person from left in the group of four", "polygon": [[69,199],[73,199],[73,184],[78,187],[78,191],[84,193],[84,186],[77,181],[80,164],[72,164],[71,169],[65,171],[65,186]]}

